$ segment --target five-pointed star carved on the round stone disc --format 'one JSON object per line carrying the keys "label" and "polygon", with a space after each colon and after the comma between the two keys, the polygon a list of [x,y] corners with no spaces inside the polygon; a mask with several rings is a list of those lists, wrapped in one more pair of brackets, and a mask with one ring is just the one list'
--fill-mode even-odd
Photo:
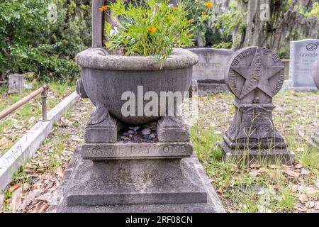
{"label": "five-pointed star carved on the round stone disc", "polygon": [[240,92],[240,99],[258,88],[269,96],[274,96],[273,89],[269,84],[269,79],[275,74],[284,70],[283,66],[264,65],[262,60],[262,48],[257,48],[250,66],[247,67],[230,67],[245,79],[245,84]]}

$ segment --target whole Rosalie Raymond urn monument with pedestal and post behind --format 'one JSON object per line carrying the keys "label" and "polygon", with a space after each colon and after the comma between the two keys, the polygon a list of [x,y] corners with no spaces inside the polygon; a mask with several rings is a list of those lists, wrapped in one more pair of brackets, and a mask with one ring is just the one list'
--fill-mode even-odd
{"label": "whole Rosalie Raymond urn monument with pedestal and post behind", "polygon": [[[93,21],[99,22],[94,29],[103,29],[103,21],[96,21],[101,4],[93,1]],[[140,112],[150,103],[140,102],[146,92],[155,97],[188,91],[196,55],[174,50],[160,70],[155,57],[108,55],[100,39],[93,35],[95,48],[76,58],[82,68],[77,91],[96,108],[50,211],[223,212],[194,154],[188,126],[179,116],[162,116],[172,104],[164,110],[155,104],[152,116]],[[137,115],[123,114],[123,94],[138,97],[130,106]]]}

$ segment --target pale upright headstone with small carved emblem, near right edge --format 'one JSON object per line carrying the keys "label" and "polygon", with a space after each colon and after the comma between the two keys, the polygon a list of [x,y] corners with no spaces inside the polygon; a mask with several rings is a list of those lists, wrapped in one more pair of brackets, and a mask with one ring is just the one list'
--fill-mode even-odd
{"label": "pale upright headstone with small carved emblem, near right edge", "polygon": [[289,81],[285,82],[285,89],[293,89],[297,92],[315,90],[312,71],[315,60],[318,57],[319,40],[292,41],[290,46]]}

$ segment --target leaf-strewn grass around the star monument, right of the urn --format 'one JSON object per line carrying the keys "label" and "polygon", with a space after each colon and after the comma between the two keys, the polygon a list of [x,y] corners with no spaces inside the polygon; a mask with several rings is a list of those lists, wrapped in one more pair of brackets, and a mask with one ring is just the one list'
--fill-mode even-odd
{"label": "leaf-strewn grass around the star monument, right of the urn", "polygon": [[[297,205],[306,207],[298,200],[301,192],[292,191],[291,185],[313,188],[319,179],[319,153],[306,145],[319,126],[319,92],[279,92],[274,98],[274,124],[296,154],[296,164],[302,166],[298,168],[282,166],[279,161],[257,168],[243,162],[223,162],[219,144],[235,114],[233,99],[225,93],[199,97],[199,120],[191,127],[194,150],[226,211],[295,212]],[[308,175],[301,175],[302,169]],[[298,176],[291,176],[290,170]],[[318,194],[307,196],[318,199]]]}

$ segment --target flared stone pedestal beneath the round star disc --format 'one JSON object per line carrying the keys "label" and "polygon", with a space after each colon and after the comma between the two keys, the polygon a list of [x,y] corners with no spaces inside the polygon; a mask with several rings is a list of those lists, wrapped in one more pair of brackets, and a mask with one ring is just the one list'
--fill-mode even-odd
{"label": "flared stone pedestal beneath the round star disc", "polygon": [[295,155],[272,121],[273,104],[238,104],[233,122],[223,136],[224,159],[293,164]]}

